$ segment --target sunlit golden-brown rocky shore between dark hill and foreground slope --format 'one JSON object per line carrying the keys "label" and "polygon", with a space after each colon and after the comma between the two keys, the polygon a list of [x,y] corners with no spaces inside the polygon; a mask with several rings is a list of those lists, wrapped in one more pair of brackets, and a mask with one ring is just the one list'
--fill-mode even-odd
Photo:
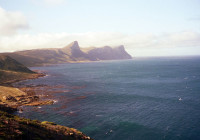
{"label": "sunlit golden-brown rocky shore between dark hill and foreground slope", "polygon": [[[43,73],[39,73],[34,74],[34,76],[27,79],[36,79],[43,76],[46,75]],[[13,83],[27,79],[24,78],[21,80],[6,81],[2,84],[2,86],[0,86],[1,110],[7,110],[8,112],[16,110],[22,111],[22,109],[20,108],[21,106],[40,106],[50,105],[54,103],[53,100],[41,100],[40,97],[36,95],[33,90],[27,90],[29,89],[29,87],[16,88],[12,86]]]}

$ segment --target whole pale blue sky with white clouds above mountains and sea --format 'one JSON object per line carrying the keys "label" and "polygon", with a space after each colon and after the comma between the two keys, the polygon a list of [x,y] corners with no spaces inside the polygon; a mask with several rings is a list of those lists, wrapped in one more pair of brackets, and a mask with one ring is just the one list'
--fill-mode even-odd
{"label": "whole pale blue sky with white clouds above mountains and sea", "polygon": [[0,0],[0,52],[75,40],[133,57],[200,55],[200,0]]}

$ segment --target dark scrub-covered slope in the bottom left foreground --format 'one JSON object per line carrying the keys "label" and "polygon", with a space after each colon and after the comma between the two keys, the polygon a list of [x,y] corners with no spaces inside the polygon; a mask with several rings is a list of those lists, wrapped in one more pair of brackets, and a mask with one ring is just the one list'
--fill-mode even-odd
{"label": "dark scrub-covered slope in the bottom left foreground", "polygon": [[40,122],[0,111],[0,139],[89,140],[82,132],[53,122]]}

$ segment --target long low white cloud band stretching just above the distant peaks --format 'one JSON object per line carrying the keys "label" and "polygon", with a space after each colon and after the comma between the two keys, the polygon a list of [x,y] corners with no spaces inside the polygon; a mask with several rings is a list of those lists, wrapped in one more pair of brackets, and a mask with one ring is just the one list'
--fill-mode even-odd
{"label": "long low white cloud band stretching just above the distant peaks", "polygon": [[[200,33],[184,31],[178,33],[154,34],[123,34],[113,32],[87,32],[87,33],[41,33],[36,35],[15,35],[0,38],[0,50],[16,51],[37,48],[64,47],[77,40],[81,47],[101,47],[105,45],[124,45],[129,52],[138,51],[137,55],[152,53],[152,50],[174,50],[176,48],[200,48]],[[176,51],[174,51],[176,52]],[[159,53],[159,52],[157,52]],[[187,52],[186,52],[187,53]]]}

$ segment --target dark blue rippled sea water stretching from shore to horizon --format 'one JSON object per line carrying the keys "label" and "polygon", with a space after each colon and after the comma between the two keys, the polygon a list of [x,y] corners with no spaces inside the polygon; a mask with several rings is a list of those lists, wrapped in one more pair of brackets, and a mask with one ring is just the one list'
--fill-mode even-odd
{"label": "dark blue rippled sea water stretching from shore to horizon", "polygon": [[96,140],[200,139],[200,57],[33,69],[49,76],[20,84],[62,85],[68,92],[49,95],[55,104],[26,107],[21,116],[74,127]]}

